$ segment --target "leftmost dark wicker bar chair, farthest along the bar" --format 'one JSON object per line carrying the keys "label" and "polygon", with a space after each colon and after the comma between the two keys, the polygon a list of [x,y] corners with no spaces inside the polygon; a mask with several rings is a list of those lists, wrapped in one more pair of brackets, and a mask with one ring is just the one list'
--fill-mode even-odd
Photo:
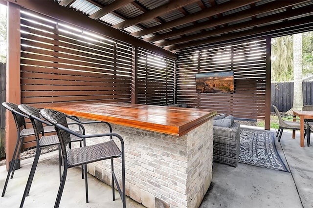
{"label": "leftmost dark wicker bar chair, farthest along the bar", "polygon": [[[8,109],[14,118],[15,121],[15,125],[16,125],[16,130],[17,130],[17,141],[16,141],[16,145],[14,148],[14,152],[13,152],[13,156],[12,156],[12,160],[9,163],[9,170],[8,170],[8,174],[6,176],[6,180],[4,183],[4,187],[2,190],[2,195],[1,197],[4,196],[6,187],[8,185],[9,179],[10,179],[10,175],[11,175],[11,179],[13,178],[14,175],[14,171],[16,169],[16,165],[19,161],[19,154],[18,152],[21,152],[21,148],[22,148],[22,144],[24,141],[24,137],[28,137],[28,136],[34,136],[35,132],[33,128],[26,128],[26,122],[25,122],[25,118],[29,118],[27,115],[25,115],[19,108],[17,104],[13,104],[13,103],[9,103],[9,102],[3,102],[2,106],[5,107],[6,109]],[[44,126],[44,128],[42,129],[42,132],[40,133],[47,133],[47,132],[53,132],[55,131],[54,126],[53,125],[47,125]],[[11,139],[11,138],[10,138]]]}

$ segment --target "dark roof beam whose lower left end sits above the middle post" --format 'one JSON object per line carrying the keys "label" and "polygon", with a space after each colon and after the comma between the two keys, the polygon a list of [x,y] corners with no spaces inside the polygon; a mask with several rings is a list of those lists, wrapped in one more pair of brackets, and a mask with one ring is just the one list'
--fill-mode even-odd
{"label": "dark roof beam whose lower left end sits above the middle post", "polygon": [[246,6],[250,3],[254,3],[257,2],[259,0],[234,0],[234,1],[228,1],[226,3],[220,4],[218,6],[215,7],[211,7],[211,8],[206,8],[204,10],[202,10],[201,12],[197,12],[195,14],[191,14],[191,15],[187,15],[185,17],[179,18],[178,20],[173,20],[173,21],[169,21],[169,22],[165,22],[161,25],[157,25],[154,27],[149,27],[145,30],[141,30],[138,32],[134,32],[132,33],[133,36],[135,37],[140,37],[143,35],[147,35],[147,34],[151,34],[151,33],[155,33],[155,32],[159,32],[162,30],[166,30],[166,29],[170,29],[172,27],[177,27],[179,25],[183,25],[189,22],[193,22],[193,21],[197,21],[197,20],[201,20],[203,18],[207,18],[213,15],[217,15],[232,9],[236,9],[242,6]]}

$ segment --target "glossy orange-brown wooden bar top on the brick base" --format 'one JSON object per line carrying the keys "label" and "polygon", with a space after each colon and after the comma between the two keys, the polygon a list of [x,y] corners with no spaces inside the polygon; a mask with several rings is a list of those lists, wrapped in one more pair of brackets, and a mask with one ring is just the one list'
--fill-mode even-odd
{"label": "glossy orange-brown wooden bar top on the brick base", "polygon": [[77,117],[182,136],[216,115],[197,108],[86,102],[49,106]]}

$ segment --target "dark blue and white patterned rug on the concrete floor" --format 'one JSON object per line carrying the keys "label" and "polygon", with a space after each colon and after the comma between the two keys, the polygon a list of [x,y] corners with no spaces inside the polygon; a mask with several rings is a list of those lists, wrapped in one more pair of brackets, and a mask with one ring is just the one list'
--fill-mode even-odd
{"label": "dark blue and white patterned rug on the concrete floor", "polygon": [[277,152],[272,132],[242,128],[239,162],[289,172]]}

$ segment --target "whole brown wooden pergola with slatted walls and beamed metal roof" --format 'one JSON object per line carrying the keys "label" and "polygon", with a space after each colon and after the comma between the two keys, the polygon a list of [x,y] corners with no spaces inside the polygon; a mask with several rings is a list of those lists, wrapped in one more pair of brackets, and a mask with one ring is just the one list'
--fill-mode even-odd
{"label": "whole brown wooden pergola with slatted walls and beamed metal roof", "polygon": [[[270,39],[313,29],[311,0],[0,3],[8,6],[8,102],[37,107],[82,100],[182,103],[264,119],[265,129],[270,125]],[[40,18],[32,19],[33,13]],[[95,35],[97,43],[82,41]],[[195,74],[216,71],[234,71],[235,93],[196,93]],[[14,137],[11,115],[6,128],[6,138]],[[15,141],[6,142],[8,150],[14,148]]]}

